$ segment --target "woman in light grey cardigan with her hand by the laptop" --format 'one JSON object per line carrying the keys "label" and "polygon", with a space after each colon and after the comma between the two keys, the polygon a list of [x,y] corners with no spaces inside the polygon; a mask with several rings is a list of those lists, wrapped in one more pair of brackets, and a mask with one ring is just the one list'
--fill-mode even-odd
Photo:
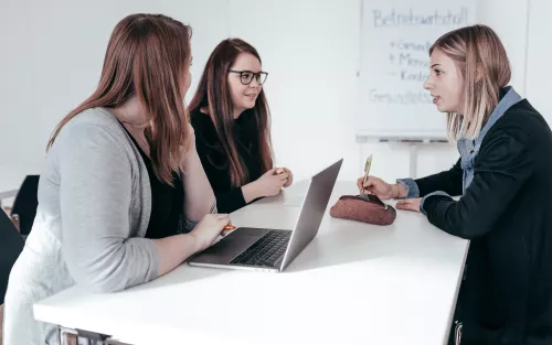
{"label": "woman in light grey cardigan with her hand by the laptop", "polygon": [[[36,218],[10,276],[6,344],[59,344],[33,303],[78,284],[119,291],[209,247],[230,219],[184,109],[191,29],[132,14],[115,28],[94,94],[57,126]],[[200,222],[201,220],[201,222]]]}

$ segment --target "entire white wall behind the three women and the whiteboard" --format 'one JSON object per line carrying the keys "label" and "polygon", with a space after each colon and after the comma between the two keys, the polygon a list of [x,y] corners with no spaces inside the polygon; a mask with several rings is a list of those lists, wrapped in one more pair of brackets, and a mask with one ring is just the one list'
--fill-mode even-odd
{"label": "entire white wall behind the three women and the whiteboard", "polygon": [[[503,40],[512,83],[522,94],[527,1],[481,0],[478,13]],[[1,0],[0,157],[25,164],[44,157],[54,126],[95,88],[116,22],[132,12],[162,12],[192,25],[188,99],[221,40],[240,36],[257,47],[269,72],[265,88],[277,164],[297,177],[343,157],[340,179],[353,180],[368,153],[374,154],[373,174],[386,180],[408,174],[408,147],[355,142],[360,0]],[[534,15],[545,21],[543,13]],[[546,80],[533,80],[527,89],[544,96]],[[456,159],[455,148],[424,147],[417,174],[447,169]]]}

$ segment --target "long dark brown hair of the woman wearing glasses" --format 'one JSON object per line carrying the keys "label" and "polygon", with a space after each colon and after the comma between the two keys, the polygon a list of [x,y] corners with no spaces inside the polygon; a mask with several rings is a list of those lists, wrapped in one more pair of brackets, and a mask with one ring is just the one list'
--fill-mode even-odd
{"label": "long dark brown hair of the woman wearing glasses", "polygon": [[[201,107],[209,108],[209,116],[214,123],[219,144],[229,161],[231,183],[234,187],[246,184],[250,179],[245,163],[240,158],[234,139],[234,105],[230,94],[227,74],[241,53],[250,53],[261,62],[257,51],[240,39],[227,39],[219,43],[209,56],[205,69],[198,85],[198,90],[190,101],[190,112]],[[270,111],[264,89],[257,96],[255,107],[247,117],[254,123],[248,128],[257,131],[261,153],[261,172],[265,173],[273,168],[273,152],[270,140]]]}

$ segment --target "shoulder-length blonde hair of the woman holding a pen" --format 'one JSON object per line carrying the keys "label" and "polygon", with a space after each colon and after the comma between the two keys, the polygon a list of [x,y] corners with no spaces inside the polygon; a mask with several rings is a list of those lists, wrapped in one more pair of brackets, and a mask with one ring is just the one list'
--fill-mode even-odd
{"label": "shoulder-length blonde hair of the woman holding a pen", "polygon": [[447,133],[453,141],[475,138],[498,105],[500,89],[511,77],[510,61],[498,35],[486,25],[471,25],[450,31],[429,48],[438,48],[450,57],[464,78],[464,114],[447,115]]}

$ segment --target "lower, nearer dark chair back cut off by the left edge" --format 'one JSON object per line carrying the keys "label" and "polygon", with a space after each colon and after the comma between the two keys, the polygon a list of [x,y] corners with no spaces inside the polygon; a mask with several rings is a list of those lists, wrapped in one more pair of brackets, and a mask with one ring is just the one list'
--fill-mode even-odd
{"label": "lower, nearer dark chair back cut off by the left edge", "polygon": [[23,250],[23,238],[10,217],[0,209],[0,304],[3,304],[10,271]]}

